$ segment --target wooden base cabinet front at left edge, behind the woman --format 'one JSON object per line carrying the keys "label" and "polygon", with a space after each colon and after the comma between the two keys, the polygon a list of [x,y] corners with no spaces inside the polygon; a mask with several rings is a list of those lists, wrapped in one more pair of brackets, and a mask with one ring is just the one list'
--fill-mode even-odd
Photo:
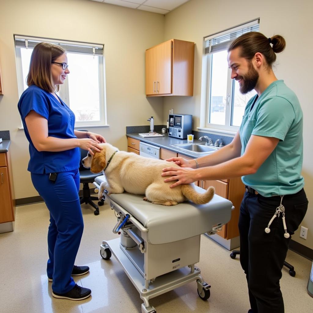
{"label": "wooden base cabinet front at left edge, behind the woman", "polygon": [[0,223],[14,221],[15,203],[11,169],[9,152],[0,153]]}

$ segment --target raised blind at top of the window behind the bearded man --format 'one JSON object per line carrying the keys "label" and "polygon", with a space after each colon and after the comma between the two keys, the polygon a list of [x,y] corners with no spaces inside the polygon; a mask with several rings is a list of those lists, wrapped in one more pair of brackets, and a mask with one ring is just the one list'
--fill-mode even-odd
{"label": "raised blind at top of the window behind the bearded man", "polygon": [[229,44],[237,37],[249,32],[259,31],[259,19],[248,23],[228,28],[220,33],[215,33],[204,37],[205,54],[212,54],[218,51],[226,50]]}

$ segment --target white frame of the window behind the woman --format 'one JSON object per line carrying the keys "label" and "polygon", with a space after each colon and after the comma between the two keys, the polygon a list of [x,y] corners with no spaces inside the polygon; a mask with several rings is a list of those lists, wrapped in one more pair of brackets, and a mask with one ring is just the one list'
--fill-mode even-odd
{"label": "white frame of the window behind the woman", "polygon": [[[14,35],[14,36],[20,36],[20,35]],[[23,36],[25,38],[34,38],[31,36]],[[36,38],[37,39],[37,38]],[[61,39],[49,39],[49,38],[39,38],[43,42],[49,42],[56,44],[57,42],[64,42]],[[76,42],[70,42],[66,41],[67,43],[76,43]],[[85,43],[82,43],[85,44]],[[87,43],[86,43],[87,44]],[[89,44],[92,46],[93,44]],[[97,44],[98,45],[98,44]],[[17,83],[18,83],[18,95],[19,98],[21,97],[22,93],[24,92],[24,82],[23,82],[23,67],[22,67],[22,55],[21,55],[21,49],[33,49],[33,48],[27,48],[21,47],[21,46],[15,46],[15,58],[16,58],[16,71],[17,71]],[[79,53],[79,52],[67,52],[67,53],[74,53],[74,54],[87,54],[89,53]],[[107,124],[107,110],[106,110],[106,81],[105,81],[105,57],[103,54],[95,54],[95,57],[98,58],[98,81],[99,81],[99,105],[100,105],[100,120],[99,121],[75,121],[74,128],[82,128],[82,127],[103,127],[103,126],[109,126]],[[68,80],[64,81],[64,84],[59,85],[59,96],[60,98],[66,103],[66,105],[71,108],[69,103],[69,85]],[[19,129],[23,129],[22,121],[21,121],[21,127]]]}

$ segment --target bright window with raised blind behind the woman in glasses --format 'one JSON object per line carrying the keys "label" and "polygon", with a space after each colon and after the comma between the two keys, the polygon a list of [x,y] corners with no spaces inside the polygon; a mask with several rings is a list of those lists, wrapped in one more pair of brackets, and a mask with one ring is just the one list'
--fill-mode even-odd
{"label": "bright window with raised blind behind the woman in glasses", "polygon": [[59,87],[59,96],[75,114],[75,126],[106,125],[105,66],[103,45],[14,35],[18,91],[28,87],[30,57],[39,42],[62,47],[67,54],[70,74]]}

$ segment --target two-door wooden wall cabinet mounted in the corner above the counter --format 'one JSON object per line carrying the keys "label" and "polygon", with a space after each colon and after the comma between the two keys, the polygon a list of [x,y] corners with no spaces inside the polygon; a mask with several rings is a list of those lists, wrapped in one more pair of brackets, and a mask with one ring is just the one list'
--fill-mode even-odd
{"label": "two-door wooden wall cabinet mounted in the corner above the counter", "polygon": [[171,39],[146,50],[146,95],[193,95],[194,43]]}

